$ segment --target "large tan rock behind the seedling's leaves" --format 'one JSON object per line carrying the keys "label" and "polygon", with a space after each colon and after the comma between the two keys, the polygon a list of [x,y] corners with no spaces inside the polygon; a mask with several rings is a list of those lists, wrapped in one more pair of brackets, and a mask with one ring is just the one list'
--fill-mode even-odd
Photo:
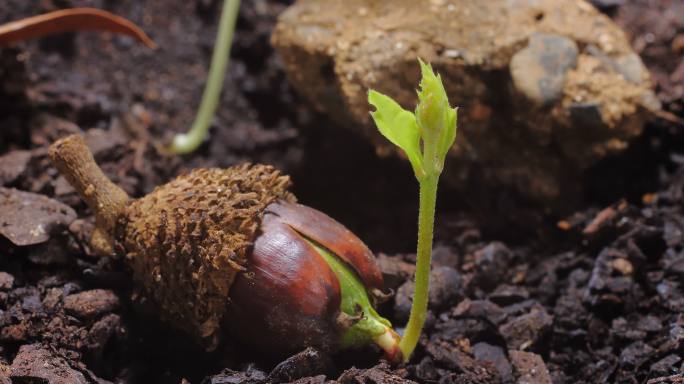
{"label": "large tan rock behind the seedling's leaves", "polygon": [[583,0],[298,0],[272,41],[299,91],[381,154],[367,90],[413,109],[416,57],[431,62],[462,107],[445,179],[556,212],[660,108],[623,31]]}

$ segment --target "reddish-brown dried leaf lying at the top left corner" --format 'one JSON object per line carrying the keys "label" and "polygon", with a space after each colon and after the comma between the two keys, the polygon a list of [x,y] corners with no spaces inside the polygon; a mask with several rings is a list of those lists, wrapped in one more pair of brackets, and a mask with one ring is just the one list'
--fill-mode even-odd
{"label": "reddish-brown dried leaf lying at the top left corner", "polygon": [[107,31],[128,35],[150,48],[157,48],[157,44],[131,21],[95,8],[63,9],[0,25],[0,46],[74,31]]}

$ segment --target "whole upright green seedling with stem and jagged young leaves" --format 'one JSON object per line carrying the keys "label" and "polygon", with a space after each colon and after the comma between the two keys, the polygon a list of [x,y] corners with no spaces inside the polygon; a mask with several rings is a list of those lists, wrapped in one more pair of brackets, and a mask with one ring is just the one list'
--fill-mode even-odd
{"label": "whole upright green seedling with stem and jagged young leaves", "polygon": [[372,89],[368,92],[368,102],[376,109],[371,112],[375,125],[387,140],[404,151],[420,186],[416,288],[409,321],[399,343],[405,361],[416,348],[425,324],[437,184],[444,159],[456,140],[457,108],[449,106],[442,79],[430,64],[420,59],[418,62],[422,79],[415,112],[403,109],[392,98]]}

